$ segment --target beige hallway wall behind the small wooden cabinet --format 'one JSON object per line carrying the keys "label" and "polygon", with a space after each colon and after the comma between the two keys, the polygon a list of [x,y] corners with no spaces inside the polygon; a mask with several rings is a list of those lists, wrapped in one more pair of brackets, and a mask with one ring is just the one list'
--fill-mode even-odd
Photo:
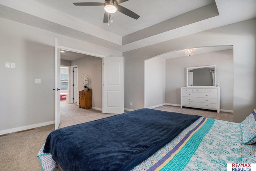
{"label": "beige hallway wall behind the small wooden cabinet", "polygon": [[82,75],[88,74],[89,88],[92,88],[92,107],[101,109],[102,58],[86,56],[71,61],[71,65],[78,65],[78,94],[84,89]]}

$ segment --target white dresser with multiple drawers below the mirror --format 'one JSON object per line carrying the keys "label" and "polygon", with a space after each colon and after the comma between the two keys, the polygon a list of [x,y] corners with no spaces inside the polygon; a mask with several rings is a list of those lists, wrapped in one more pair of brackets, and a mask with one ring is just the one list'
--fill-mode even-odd
{"label": "white dresser with multiple drawers below the mirror", "polygon": [[180,87],[182,106],[217,110],[220,112],[220,87]]}

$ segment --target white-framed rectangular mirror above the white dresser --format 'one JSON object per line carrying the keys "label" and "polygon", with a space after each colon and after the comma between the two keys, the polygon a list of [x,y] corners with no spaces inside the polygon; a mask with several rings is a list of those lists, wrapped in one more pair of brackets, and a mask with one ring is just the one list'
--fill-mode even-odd
{"label": "white-framed rectangular mirror above the white dresser", "polygon": [[216,65],[188,67],[186,86],[216,86]]}

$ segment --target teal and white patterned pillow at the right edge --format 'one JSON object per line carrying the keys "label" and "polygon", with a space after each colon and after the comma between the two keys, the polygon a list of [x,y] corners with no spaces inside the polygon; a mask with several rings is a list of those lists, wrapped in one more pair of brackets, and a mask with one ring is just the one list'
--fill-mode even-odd
{"label": "teal and white patterned pillow at the right edge", "polygon": [[256,142],[256,109],[241,122],[242,144]]}

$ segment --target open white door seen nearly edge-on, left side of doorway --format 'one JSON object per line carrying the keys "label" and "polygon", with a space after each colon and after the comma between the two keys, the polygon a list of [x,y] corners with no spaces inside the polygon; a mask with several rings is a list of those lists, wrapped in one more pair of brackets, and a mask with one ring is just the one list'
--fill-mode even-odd
{"label": "open white door seen nearly edge-on, left side of doorway", "polygon": [[60,125],[60,49],[55,39],[55,130]]}

